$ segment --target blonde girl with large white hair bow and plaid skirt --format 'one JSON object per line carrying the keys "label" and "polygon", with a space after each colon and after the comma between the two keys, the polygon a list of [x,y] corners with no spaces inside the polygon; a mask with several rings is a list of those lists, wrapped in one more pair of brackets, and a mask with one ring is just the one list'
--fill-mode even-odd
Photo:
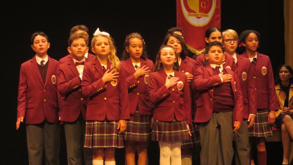
{"label": "blonde girl with large white hair bow and plaid skirt", "polygon": [[115,164],[115,147],[124,147],[122,132],[129,119],[125,71],[119,66],[113,39],[99,28],[92,39],[95,60],[87,62],[81,81],[88,99],[84,147],[93,148],[92,164]]}

